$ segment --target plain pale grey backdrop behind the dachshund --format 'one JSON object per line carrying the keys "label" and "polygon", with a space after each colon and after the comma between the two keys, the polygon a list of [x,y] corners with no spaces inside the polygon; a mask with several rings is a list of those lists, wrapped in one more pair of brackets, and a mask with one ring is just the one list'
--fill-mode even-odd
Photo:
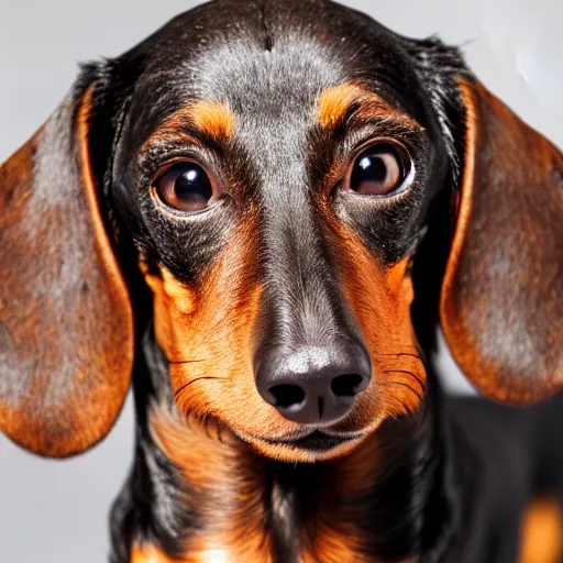
{"label": "plain pale grey backdrop behind the dachshund", "polygon": [[[244,1],[244,0],[241,0]],[[77,62],[115,56],[196,2],[0,2],[0,162],[43,123]],[[482,80],[563,145],[560,0],[345,1],[406,35],[464,45]],[[0,280],[1,283],[1,280]],[[462,376],[444,356],[456,390]],[[34,457],[0,435],[0,561],[100,563],[108,510],[132,460],[131,400],[110,437],[67,462]]]}

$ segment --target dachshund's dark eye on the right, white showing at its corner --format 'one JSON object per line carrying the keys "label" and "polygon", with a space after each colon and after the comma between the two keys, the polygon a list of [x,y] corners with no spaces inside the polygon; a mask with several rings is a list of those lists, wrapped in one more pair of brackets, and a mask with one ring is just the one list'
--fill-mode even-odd
{"label": "dachshund's dark eye on the right, white showing at its corner", "polygon": [[388,143],[372,145],[352,163],[345,189],[362,196],[388,196],[404,187],[407,158]]}

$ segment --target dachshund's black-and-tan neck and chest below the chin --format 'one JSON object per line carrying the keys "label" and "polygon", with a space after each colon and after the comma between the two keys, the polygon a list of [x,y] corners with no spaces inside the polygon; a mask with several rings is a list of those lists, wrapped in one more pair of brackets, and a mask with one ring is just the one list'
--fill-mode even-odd
{"label": "dachshund's black-and-tan neck and chest below the chin", "polygon": [[[132,476],[143,483],[135,505],[147,523],[131,540],[139,561],[168,561],[167,553],[190,562],[404,562],[422,553],[422,538],[431,544],[443,537],[435,525],[448,520],[448,507],[432,397],[340,460],[285,464],[213,421],[181,418],[172,393],[162,393],[163,363],[151,354],[152,397],[137,401],[150,411],[137,413]],[[151,550],[159,555],[145,556]]]}

